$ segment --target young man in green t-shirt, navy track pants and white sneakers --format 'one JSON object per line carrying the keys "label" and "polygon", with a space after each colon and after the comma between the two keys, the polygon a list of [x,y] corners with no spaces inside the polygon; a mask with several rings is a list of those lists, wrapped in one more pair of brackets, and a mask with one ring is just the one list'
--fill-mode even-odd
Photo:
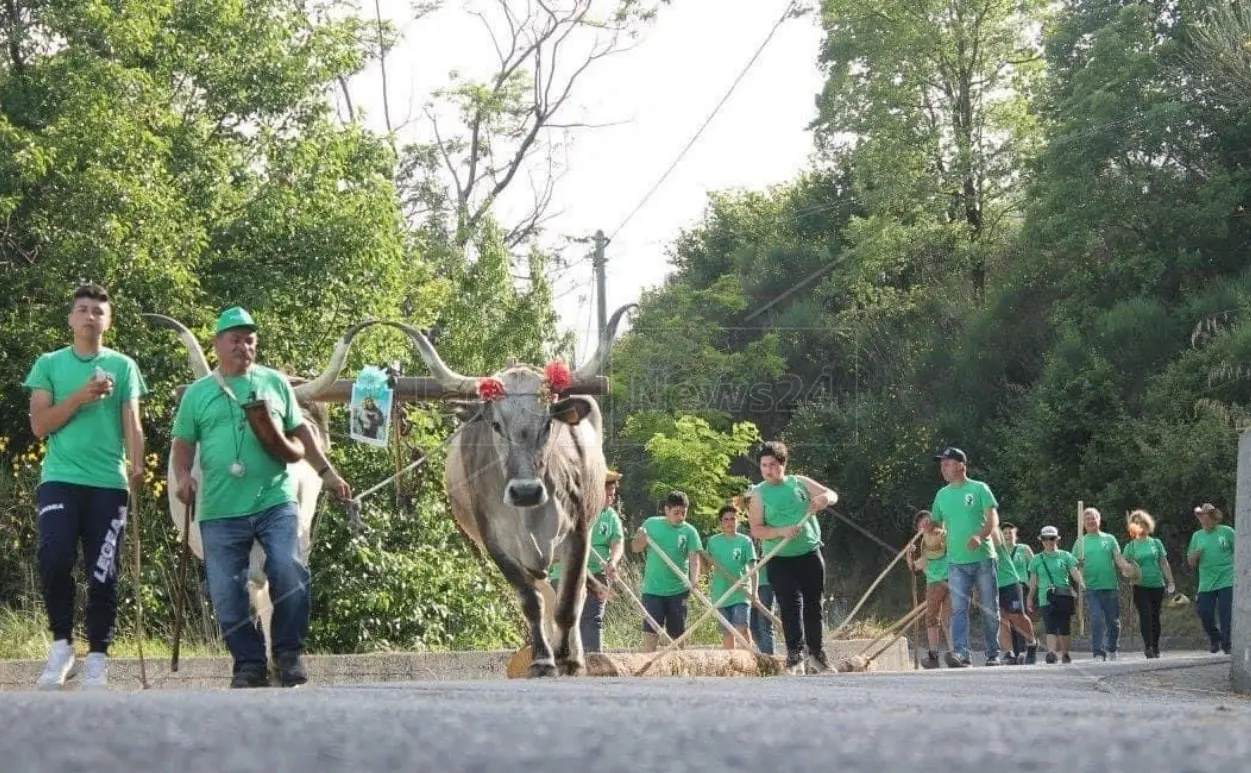
{"label": "young man in green t-shirt, navy track pants and white sneakers", "polygon": [[30,429],[48,442],[39,490],[39,574],[53,647],[40,689],[60,689],[74,668],[74,564],[86,567],[84,689],[109,684],[109,645],[118,618],[118,569],[130,509],[144,482],[139,398],[148,388],[133,359],[103,345],[113,324],[108,290],[74,290],[74,341],[39,356],[26,375]]}

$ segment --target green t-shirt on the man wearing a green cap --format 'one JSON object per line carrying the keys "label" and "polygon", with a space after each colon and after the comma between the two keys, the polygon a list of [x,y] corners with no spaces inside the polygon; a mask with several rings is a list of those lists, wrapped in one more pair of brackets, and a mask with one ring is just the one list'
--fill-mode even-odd
{"label": "green t-shirt on the man wearing a green cap", "polygon": [[[295,390],[281,373],[253,365],[246,375],[226,378],[235,397],[248,403],[251,394],[269,403],[269,413],[284,432],[304,423]],[[251,432],[243,408],[221,390],[213,374],[198,379],[178,404],[173,435],[200,445],[199,520],[251,515],[285,502],[296,502],[295,480],[286,464],[265,452]],[[235,462],[243,477],[230,473]]]}

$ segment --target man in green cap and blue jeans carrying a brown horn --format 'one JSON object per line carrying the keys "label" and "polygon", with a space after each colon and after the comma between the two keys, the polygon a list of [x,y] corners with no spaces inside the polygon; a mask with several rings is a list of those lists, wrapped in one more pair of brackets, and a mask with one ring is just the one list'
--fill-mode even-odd
{"label": "man in green cap and blue jeans carrying a brown horn", "polygon": [[[309,569],[300,557],[295,480],[270,454],[244,405],[265,400],[283,433],[303,444],[304,459],[339,500],[348,484],[330,467],[308,425],[295,392],[280,371],[256,364],[256,323],[239,306],[218,318],[213,339],[218,368],[183,394],[174,417],[174,485],[190,505],[199,489],[196,522],[204,544],[209,595],[234,657],[231,687],[269,683],[265,643],[249,614],[248,564],[253,543],[265,552],[274,599],[273,650],[284,687],[308,680],[303,663],[309,628]],[[191,477],[196,447],[199,483]]]}

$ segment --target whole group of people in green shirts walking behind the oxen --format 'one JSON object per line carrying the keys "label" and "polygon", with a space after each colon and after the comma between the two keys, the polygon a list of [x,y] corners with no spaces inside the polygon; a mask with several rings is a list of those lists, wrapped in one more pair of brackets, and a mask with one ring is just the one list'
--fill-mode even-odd
{"label": "whole group of people in green shirts walking behind the oxen", "polygon": [[[946,639],[946,664],[971,665],[968,613],[976,603],[986,637],[986,664],[1033,664],[1040,649],[1046,663],[1072,662],[1072,619],[1077,594],[1090,610],[1093,658],[1115,660],[1121,643],[1118,589],[1131,585],[1138,613],[1142,652],[1160,657],[1161,610],[1176,585],[1155,519],[1146,510],[1127,518],[1127,538],[1103,530],[1096,508],[1083,512],[1085,533],[1070,549],[1061,547],[1060,530],[1045,525],[1035,552],[1018,539],[1016,524],[1000,522],[998,500],[991,488],[967,475],[968,458],[957,448],[934,457],[946,480],[931,509],[917,514],[916,543],[907,553],[913,572],[926,578],[924,668],[940,667]],[[803,475],[787,474],[783,443],[764,444],[759,454],[762,480],[746,493],[747,530],[741,529],[739,504],[718,512],[719,530],[707,540],[687,520],[689,500],[671,492],[662,514],[651,517],[629,540],[631,550],[646,554],[639,603],[644,609],[643,649],[684,640],[692,589],[709,577],[709,599],[719,613],[722,645],[747,642],[773,654],[774,604],[781,613],[791,673],[828,670],[824,653],[822,598],[826,565],[821,525],[816,513],[837,500],[828,487]],[[609,502],[619,479],[609,480]],[[1233,529],[1211,504],[1195,508],[1200,528],[1186,553],[1198,572],[1196,609],[1210,649],[1230,652],[1233,590]],[[588,594],[583,614],[583,642],[599,652],[604,599],[626,542],[619,515],[609,507],[593,528],[592,574],[600,580]],[[600,557],[608,557],[600,560]],[[762,559],[768,559],[767,562]],[[557,569],[555,577],[559,577]],[[1038,618],[1040,625],[1035,624]],[[1045,639],[1040,640],[1041,628]],[[666,642],[661,635],[667,637]]]}

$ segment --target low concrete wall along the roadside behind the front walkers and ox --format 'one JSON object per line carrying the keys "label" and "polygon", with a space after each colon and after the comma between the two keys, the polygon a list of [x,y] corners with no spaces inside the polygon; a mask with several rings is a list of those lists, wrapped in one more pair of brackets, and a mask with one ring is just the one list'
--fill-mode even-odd
{"label": "low concrete wall along the roadside behind the front walkers and ox", "polygon": [[[857,655],[868,643],[868,639],[827,640],[826,648],[831,663],[837,663],[841,658]],[[309,655],[305,663],[311,685],[450,682],[503,679],[504,665],[512,654],[512,650],[487,650]],[[43,667],[43,660],[0,660],[0,690],[34,689]],[[903,639],[894,640],[873,663],[873,670],[912,668],[908,644]],[[230,685],[229,658],[181,658],[178,673],[170,672],[168,657],[148,658],[146,672],[150,689],[225,689]],[[140,689],[139,659],[114,658],[109,664],[109,685],[111,689]],[[74,679],[66,689],[76,689]]]}

